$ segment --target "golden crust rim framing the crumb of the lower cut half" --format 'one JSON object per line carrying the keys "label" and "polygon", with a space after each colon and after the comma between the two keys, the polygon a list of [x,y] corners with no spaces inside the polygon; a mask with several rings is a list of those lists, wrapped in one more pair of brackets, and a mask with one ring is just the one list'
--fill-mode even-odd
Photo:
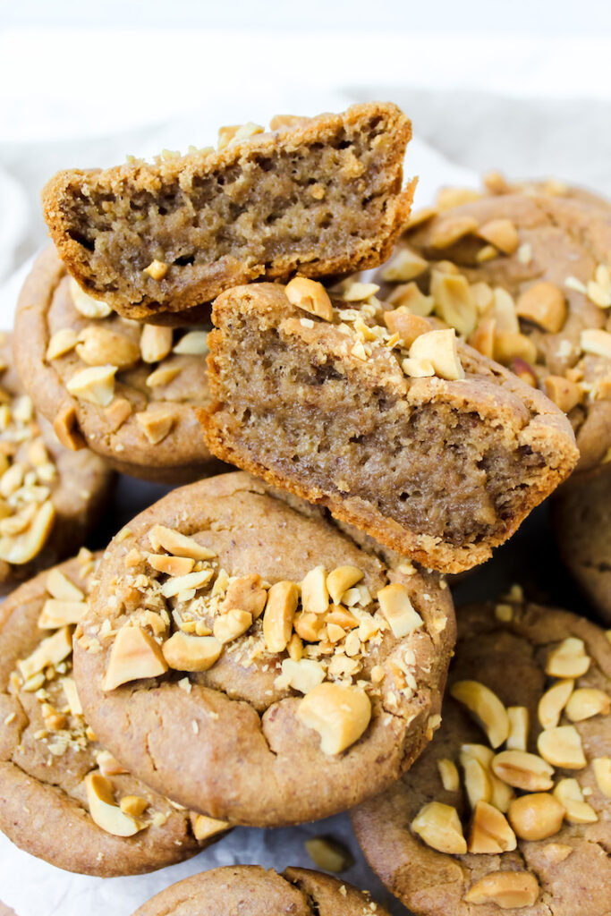
{"label": "golden crust rim framing the crumb of the lower cut half", "polygon": [[[329,508],[335,518],[365,530],[387,547],[444,573],[458,573],[488,559],[492,548],[507,540],[530,510],[573,469],[577,452],[573,433],[562,411],[541,392],[524,384],[507,369],[471,347],[465,344],[458,347],[466,379],[408,379],[390,351],[373,354],[366,362],[351,358],[342,350],[343,334],[339,334],[330,323],[318,320],[311,328],[305,327],[299,320],[303,314],[296,307],[289,306],[284,289],[278,284],[253,284],[232,289],[214,303],[216,329],[209,336],[211,353],[208,359],[213,404],[210,411],[202,412],[200,416],[211,451],[224,461],[263,477],[269,484]],[[414,412],[431,404],[448,404],[457,411],[471,411],[491,428],[502,430],[499,442],[507,438],[507,431],[510,431],[509,438],[514,437],[518,447],[540,454],[544,465],[541,473],[529,481],[519,510],[509,518],[499,520],[496,529],[486,534],[485,538],[453,544],[440,537],[431,537],[425,531],[399,524],[394,518],[385,516],[372,500],[342,492],[331,476],[323,485],[315,485],[303,474],[300,476],[293,471],[292,466],[287,469],[286,463],[280,466],[271,460],[265,463],[259,460],[255,448],[247,447],[241,439],[240,426],[235,425],[231,416],[232,398],[239,398],[240,389],[232,387],[229,380],[236,371],[235,358],[239,359],[239,354],[232,356],[231,363],[228,354],[238,326],[248,321],[255,325],[259,322],[262,329],[275,329],[282,345],[295,348],[304,365],[324,366],[331,361],[342,371],[355,372],[363,389],[381,389],[390,392],[390,397],[404,398]],[[379,348],[380,351],[383,349]],[[267,358],[271,357],[267,354]],[[270,377],[273,378],[273,374]],[[317,384],[311,387],[304,384],[302,387],[305,394],[295,388],[295,416],[309,411],[308,416],[314,417],[319,387]],[[273,414],[278,403],[279,398],[278,401],[271,398],[266,404],[267,413]],[[286,405],[282,407],[286,409]],[[289,406],[287,412],[290,409]],[[350,419],[349,410],[346,411],[346,419]]]}

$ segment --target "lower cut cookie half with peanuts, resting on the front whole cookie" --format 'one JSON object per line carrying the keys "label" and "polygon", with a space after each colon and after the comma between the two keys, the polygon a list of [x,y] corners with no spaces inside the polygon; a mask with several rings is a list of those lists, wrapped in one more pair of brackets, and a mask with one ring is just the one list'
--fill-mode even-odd
{"label": "lower cut cookie half with peanuts, resting on the front whole cookie", "polygon": [[[214,303],[211,452],[444,573],[484,562],[577,460],[548,398],[373,284]],[[359,302],[360,300],[360,302]],[[365,300],[365,301],[364,301]]]}

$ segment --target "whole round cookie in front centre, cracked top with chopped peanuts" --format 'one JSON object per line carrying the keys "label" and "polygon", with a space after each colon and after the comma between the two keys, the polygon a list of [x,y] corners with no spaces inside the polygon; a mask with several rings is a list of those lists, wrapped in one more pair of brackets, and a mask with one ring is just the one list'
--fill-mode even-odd
{"label": "whole round cookie in front centre, cracked top with chopped peanuts", "polygon": [[439,723],[445,583],[249,474],[174,490],[117,534],[75,677],[106,747],[230,823],[344,811]]}

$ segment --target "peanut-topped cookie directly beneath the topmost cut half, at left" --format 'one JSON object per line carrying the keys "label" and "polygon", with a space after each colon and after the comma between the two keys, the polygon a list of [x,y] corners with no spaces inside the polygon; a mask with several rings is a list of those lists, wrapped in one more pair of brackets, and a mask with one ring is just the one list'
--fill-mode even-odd
{"label": "peanut-topped cookie directly beneath the topmost cut half, at left", "polygon": [[52,248],[21,292],[16,366],[60,442],[85,444],[117,470],[184,484],[219,472],[199,432],[208,404],[210,323],[138,324],[77,285]]}

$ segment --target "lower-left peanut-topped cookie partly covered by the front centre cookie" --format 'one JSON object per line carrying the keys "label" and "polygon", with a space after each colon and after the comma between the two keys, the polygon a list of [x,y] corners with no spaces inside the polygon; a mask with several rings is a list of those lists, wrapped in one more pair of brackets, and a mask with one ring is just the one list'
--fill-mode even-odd
{"label": "lower-left peanut-topped cookie partly covered by the front centre cookie", "polygon": [[0,830],[51,865],[109,878],[189,858],[228,824],[150,791],[83,717],[71,636],[100,556],[82,549],[0,610]]}

